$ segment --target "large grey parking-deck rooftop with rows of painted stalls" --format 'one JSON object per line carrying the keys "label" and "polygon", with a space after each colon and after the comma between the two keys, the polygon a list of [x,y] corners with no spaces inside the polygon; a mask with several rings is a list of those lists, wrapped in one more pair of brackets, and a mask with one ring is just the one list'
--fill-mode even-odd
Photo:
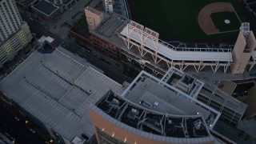
{"label": "large grey parking-deck rooftop with rows of painted stalls", "polygon": [[81,134],[94,134],[87,106],[108,90],[122,94],[125,87],[58,47],[50,54],[35,51],[0,82],[0,90],[71,141]]}

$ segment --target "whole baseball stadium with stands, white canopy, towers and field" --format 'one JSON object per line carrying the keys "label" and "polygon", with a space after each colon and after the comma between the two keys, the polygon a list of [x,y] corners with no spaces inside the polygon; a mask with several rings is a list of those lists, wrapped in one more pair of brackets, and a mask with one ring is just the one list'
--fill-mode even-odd
{"label": "whole baseball stadium with stands, white canopy, towers and field", "polygon": [[[102,12],[86,7],[94,47],[112,58],[122,59],[127,71],[133,70],[131,65],[137,66],[137,71],[161,75],[174,66],[180,70],[242,74],[256,65],[254,32],[239,2],[206,0],[196,4],[172,0],[178,3],[158,3],[164,7],[160,9],[149,0],[138,2],[136,14],[133,13],[137,5],[133,2],[114,0],[110,3],[113,6],[106,2],[105,9],[113,8],[114,12],[106,18],[102,18]],[[173,5],[178,12],[172,9]],[[198,11],[192,14],[189,10]]]}

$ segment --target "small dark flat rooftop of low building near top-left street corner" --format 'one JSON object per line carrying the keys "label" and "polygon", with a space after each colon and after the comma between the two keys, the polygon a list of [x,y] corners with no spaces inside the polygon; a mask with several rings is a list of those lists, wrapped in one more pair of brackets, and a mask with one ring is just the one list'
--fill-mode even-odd
{"label": "small dark flat rooftop of low building near top-left street corner", "polygon": [[34,9],[41,11],[44,14],[50,15],[54,12],[54,10],[57,10],[58,7],[50,4],[49,2],[46,2],[44,0],[38,2],[35,4]]}

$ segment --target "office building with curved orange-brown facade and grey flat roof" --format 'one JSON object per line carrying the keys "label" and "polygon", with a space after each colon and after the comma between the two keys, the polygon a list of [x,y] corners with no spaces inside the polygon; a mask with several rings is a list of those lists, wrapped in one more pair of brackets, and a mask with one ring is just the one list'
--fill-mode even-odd
{"label": "office building with curved orange-brown facade and grey flat roof", "polygon": [[110,90],[90,106],[98,143],[217,142],[210,130],[220,113],[194,98],[202,86],[175,68],[162,79],[142,71],[122,95]]}

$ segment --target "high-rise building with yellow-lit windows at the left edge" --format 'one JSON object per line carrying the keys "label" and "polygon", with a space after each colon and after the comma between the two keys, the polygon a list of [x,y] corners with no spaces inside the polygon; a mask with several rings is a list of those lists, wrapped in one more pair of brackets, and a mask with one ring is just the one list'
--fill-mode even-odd
{"label": "high-rise building with yellow-lit windows at the left edge", "polygon": [[32,39],[14,0],[0,0],[0,67]]}

